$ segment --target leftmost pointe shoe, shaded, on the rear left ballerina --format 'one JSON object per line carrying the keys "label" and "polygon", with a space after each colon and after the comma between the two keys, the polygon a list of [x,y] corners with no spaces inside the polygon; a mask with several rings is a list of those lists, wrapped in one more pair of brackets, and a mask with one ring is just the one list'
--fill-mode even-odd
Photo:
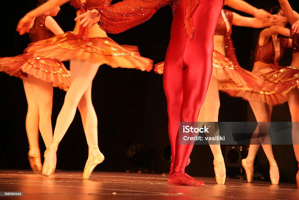
{"label": "leftmost pointe shoe, shaded, on the rear left ballerina", "polygon": [[29,147],[28,160],[32,171],[36,174],[42,172],[42,160],[40,158],[39,146]]}

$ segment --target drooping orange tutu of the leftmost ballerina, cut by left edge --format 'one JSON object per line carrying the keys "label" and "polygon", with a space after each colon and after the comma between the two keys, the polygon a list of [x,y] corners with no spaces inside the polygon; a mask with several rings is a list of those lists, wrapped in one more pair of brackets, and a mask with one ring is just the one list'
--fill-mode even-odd
{"label": "drooping orange tutu of the leftmost ballerina, cut by left edge", "polygon": [[22,78],[22,74],[30,74],[37,79],[53,83],[65,91],[71,85],[70,75],[62,62],[49,58],[33,57],[25,53],[15,57],[0,58],[0,71]]}

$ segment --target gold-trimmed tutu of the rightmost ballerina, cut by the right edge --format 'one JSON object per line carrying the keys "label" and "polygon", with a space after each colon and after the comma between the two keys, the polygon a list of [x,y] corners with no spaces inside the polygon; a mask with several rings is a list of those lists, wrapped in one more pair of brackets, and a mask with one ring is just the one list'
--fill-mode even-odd
{"label": "gold-trimmed tutu of the rightmost ballerina, cut by the right edge", "polygon": [[263,74],[263,77],[269,82],[265,87],[266,90],[287,94],[292,89],[299,88],[299,68],[280,67]]}

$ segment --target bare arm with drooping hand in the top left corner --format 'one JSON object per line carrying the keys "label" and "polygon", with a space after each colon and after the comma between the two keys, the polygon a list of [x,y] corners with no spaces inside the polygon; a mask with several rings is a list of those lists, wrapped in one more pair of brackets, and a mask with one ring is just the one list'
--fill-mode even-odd
{"label": "bare arm with drooping hand in the top left corner", "polygon": [[52,0],[45,2],[39,7],[28,12],[22,19],[20,19],[16,30],[19,31],[19,34],[21,35],[28,33],[30,30],[30,23],[34,20],[34,17],[43,15],[44,13],[56,8],[57,6],[61,6],[68,1],[70,0]]}

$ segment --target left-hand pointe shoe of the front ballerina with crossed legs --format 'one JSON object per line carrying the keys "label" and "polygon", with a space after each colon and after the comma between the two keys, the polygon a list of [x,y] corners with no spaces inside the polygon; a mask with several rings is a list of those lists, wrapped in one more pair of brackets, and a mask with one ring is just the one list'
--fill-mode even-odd
{"label": "left-hand pointe shoe of the front ballerina with crossed legs", "polygon": [[[44,176],[50,176],[51,174],[54,174],[55,169],[56,169],[56,162],[57,162],[57,157],[56,157],[56,151],[58,149],[58,139],[53,138],[51,145],[46,149],[44,157],[44,165],[42,166],[42,175]],[[52,154],[54,156],[51,156],[49,154],[50,152],[55,152],[55,154]],[[53,164],[48,164],[48,162],[52,160]]]}

